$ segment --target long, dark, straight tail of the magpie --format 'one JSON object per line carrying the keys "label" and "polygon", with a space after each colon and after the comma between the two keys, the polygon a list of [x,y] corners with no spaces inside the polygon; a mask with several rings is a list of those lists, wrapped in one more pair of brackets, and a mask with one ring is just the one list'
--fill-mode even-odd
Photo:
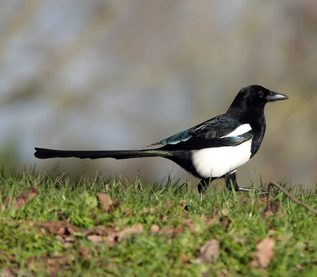
{"label": "long, dark, straight tail of the magpie", "polygon": [[170,157],[173,154],[167,150],[101,150],[101,151],[67,151],[53,150],[35,147],[34,156],[38,159],[50,159],[53,157],[78,157],[80,159],[101,159],[112,157],[114,159],[130,159],[133,157]]}

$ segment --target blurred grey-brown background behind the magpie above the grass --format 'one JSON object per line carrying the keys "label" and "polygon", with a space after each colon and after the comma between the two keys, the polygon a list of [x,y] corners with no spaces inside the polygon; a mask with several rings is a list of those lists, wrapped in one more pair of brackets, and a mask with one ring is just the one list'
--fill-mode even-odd
{"label": "blurred grey-brown background behind the magpie above the grass", "polygon": [[317,2],[0,1],[0,161],[66,172],[192,180],[162,158],[37,160],[34,146],[134,149],[224,113],[239,90],[289,96],[237,174],[317,181]]}

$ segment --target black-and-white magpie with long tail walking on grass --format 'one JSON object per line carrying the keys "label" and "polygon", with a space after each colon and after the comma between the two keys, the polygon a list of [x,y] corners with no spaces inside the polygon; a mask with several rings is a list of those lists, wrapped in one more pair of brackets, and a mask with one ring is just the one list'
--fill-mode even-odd
{"label": "black-and-white magpie with long tail walking on grass", "polygon": [[250,191],[251,188],[237,185],[236,170],[259,150],[266,127],[265,104],[285,99],[288,99],[286,95],[259,85],[246,86],[236,95],[224,114],[146,146],[155,146],[155,149],[65,151],[35,147],[34,155],[38,159],[161,156],[201,179],[197,185],[200,197],[209,184],[218,178],[224,178],[230,190],[233,187],[236,191]]}

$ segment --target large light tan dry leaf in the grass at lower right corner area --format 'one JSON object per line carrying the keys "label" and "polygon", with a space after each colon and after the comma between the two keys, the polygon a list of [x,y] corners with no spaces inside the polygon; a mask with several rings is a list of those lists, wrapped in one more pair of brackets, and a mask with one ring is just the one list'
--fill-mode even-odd
{"label": "large light tan dry leaf in the grass at lower right corner area", "polygon": [[250,267],[265,267],[274,257],[273,248],[275,241],[273,238],[264,239],[257,245],[257,252],[253,254],[253,260],[249,263]]}

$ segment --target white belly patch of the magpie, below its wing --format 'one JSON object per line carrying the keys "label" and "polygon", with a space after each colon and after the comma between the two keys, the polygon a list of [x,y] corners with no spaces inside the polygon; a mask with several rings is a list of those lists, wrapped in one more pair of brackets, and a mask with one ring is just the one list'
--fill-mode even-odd
{"label": "white belly patch of the magpie, below its wing", "polygon": [[192,151],[196,172],[204,178],[221,177],[249,161],[252,139],[236,146],[211,147]]}

